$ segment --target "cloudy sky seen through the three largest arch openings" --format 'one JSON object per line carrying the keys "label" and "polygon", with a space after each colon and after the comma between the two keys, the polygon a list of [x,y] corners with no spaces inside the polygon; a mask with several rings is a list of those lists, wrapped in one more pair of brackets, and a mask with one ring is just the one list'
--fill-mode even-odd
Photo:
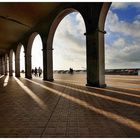
{"label": "cloudy sky seen through the three largest arch openings", "polygon": [[[105,24],[105,68],[140,68],[140,3],[112,3]],[[73,12],[58,25],[53,40],[53,69],[86,69],[85,24]],[[43,65],[39,35],[32,48],[32,67]]]}

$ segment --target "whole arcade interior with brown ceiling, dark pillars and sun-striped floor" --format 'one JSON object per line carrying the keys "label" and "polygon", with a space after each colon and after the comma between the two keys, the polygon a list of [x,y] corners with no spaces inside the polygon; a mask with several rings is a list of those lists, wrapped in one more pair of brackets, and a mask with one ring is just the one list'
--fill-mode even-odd
{"label": "whole arcade interior with brown ceiling, dark pillars and sun-striped floor", "polygon": [[[104,24],[110,4],[0,2],[0,137],[140,137],[140,77],[107,76],[105,83]],[[53,74],[53,39],[72,12],[85,24],[86,76],[62,74],[60,79]],[[43,80],[32,78],[37,35]]]}

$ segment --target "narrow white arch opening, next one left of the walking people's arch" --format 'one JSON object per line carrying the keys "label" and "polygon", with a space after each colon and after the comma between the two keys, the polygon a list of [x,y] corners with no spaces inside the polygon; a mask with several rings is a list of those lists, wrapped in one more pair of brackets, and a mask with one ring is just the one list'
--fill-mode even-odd
{"label": "narrow white arch opening, next one left of the walking people's arch", "polygon": [[25,75],[25,51],[23,45],[20,48],[20,73],[23,76]]}

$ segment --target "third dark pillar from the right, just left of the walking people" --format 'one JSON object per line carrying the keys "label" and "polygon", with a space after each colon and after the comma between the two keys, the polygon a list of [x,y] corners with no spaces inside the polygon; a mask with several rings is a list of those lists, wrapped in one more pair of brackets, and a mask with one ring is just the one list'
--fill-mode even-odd
{"label": "third dark pillar from the right, just left of the walking people", "polygon": [[28,79],[32,78],[32,71],[31,71],[31,66],[32,66],[32,56],[31,54],[28,54],[25,52],[25,77]]}

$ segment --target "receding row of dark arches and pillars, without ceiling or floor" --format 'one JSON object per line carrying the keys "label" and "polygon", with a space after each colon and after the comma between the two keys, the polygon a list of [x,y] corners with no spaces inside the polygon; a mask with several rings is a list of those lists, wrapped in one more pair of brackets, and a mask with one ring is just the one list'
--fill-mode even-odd
{"label": "receding row of dark arches and pillars, without ceiling or floor", "polygon": [[[0,74],[13,75],[12,57],[15,53],[15,76],[20,77],[20,50],[24,46],[25,77],[32,78],[31,50],[35,37],[39,34],[43,51],[43,80],[53,81],[53,37],[60,21],[71,12],[78,11],[84,19],[86,33],[87,85],[105,87],[104,24],[110,3],[65,4],[56,9],[49,20],[36,25],[4,56],[0,57]],[[8,61],[7,61],[8,60]],[[9,63],[9,64],[8,64]],[[9,65],[9,70],[8,70]]]}

